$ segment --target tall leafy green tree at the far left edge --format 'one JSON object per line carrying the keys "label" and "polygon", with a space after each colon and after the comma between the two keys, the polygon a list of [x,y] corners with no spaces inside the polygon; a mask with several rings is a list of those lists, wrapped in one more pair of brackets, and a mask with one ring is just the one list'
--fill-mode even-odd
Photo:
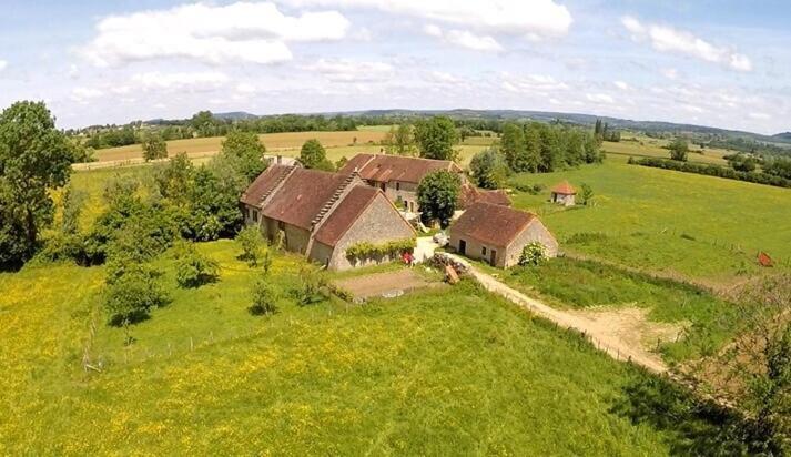
{"label": "tall leafy green tree at the far left edge", "polygon": [[0,114],[0,264],[33,254],[54,214],[49,190],[65,185],[72,160],[43,102],[18,102]]}

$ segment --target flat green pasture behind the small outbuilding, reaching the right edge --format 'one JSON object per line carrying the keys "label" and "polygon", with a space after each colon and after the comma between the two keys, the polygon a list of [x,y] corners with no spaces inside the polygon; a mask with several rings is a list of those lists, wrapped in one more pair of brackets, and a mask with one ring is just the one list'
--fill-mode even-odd
{"label": "flat green pasture behind the small outbuilding, reaching the right edge", "polygon": [[548,187],[568,180],[594,189],[592,206],[571,210],[547,203],[548,190],[514,197],[516,206],[538,212],[561,244],[578,233],[608,235],[566,244],[572,251],[714,282],[755,273],[759,250],[791,260],[791,232],[781,228],[783,215],[791,214],[785,189],[628,165],[617,158],[514,180]]}

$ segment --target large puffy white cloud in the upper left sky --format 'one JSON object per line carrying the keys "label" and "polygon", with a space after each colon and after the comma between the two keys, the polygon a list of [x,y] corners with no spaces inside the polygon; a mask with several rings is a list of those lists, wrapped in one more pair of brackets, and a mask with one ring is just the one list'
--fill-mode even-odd
{"label": "large puffy white cloud in the upper left sky", "polygon": [[348,27],[337,11],[292,17],[274,3],[195,3],[104,18],[81,53],[99,67],[172,58],[267,64],[292,60],[290,42],[339,40]]}

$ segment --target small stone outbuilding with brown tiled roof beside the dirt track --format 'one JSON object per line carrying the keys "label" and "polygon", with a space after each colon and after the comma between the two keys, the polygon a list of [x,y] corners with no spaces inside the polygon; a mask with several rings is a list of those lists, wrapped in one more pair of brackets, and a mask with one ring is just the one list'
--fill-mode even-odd
{"label": "small stone outbuilding with brown tiled roof beside the dirt track", "polygon": [[450,225],[450,246],[459,254],[503,268],[519,263],[523,248],[533,242],[557,256],[558,242],[538,216],[504,205],[477,202]]}

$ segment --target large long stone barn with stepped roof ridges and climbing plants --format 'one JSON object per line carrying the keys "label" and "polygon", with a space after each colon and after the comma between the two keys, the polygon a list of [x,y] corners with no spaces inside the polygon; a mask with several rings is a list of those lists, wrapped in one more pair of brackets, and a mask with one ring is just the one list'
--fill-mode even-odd
{"label": "large long stone barn with stepped roof ridges and climbing plants", "polygon": [[282,240],[286,250],[331,270],[374,261],[348,258],[346,250],[355,244],[415,237],[385,194],[357,173],[271,165],[247,187],[241,203],[247,225],[260,226],[268,240]]}

